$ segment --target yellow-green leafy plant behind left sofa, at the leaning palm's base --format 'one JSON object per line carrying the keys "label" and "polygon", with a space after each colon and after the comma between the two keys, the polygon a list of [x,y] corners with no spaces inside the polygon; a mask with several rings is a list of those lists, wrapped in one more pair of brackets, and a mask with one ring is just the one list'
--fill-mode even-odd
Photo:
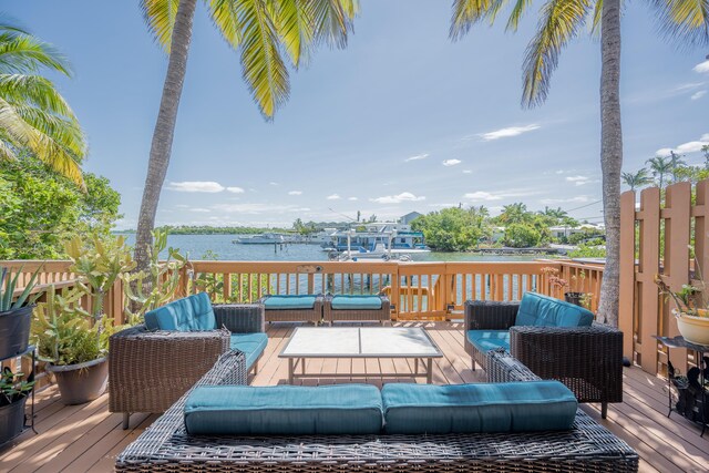
{"label": "yellow-green leafy plant behind left sofa, at the leaning palm's base", "polygon": [[[167,249],[167,259],[161,261],[160,254]],[[187,265],[187,258],[179,249],[167,247],[167,230],[153,232],[153,245],[147,247],[148,267],[146,271],[124,273],[124,315],[130,325],[143,321],[145,312],[169,302],[179,285],[179,270]]]}

